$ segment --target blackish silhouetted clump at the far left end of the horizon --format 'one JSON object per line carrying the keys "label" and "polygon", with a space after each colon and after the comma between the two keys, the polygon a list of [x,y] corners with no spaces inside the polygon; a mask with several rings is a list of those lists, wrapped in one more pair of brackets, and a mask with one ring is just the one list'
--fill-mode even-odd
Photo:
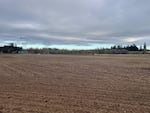
{"label": "blackish silhouetted clump at the far left end of the horizon", "polygon": [[21,51],[22,47],[16,47],[13,43],[0,47],[0,53],[20,53]]}

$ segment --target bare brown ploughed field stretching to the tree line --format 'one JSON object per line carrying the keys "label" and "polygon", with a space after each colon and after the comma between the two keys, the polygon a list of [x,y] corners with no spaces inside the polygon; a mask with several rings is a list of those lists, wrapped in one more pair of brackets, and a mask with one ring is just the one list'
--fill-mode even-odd
{"label": "bare brown ploughed field stretching to the tree line", "polygon": [[0,113],[150,113],[150,55],[0,55]]}

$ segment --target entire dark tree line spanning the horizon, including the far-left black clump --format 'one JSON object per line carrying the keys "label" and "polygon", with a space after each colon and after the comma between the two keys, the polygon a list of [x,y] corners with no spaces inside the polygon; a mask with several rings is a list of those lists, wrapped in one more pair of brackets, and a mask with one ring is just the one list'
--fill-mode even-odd
{"label": "entire dark tree line spanning the horizon, including the far-left black clump", "polygon": [[57,48],[29,48],[23,49],[15,44],[0,47],[0,53],[24,53],[24,54],[73,54],[73,55],[94,55],[94,54],[145,54],[148,53],[146,43],[138,48],[135,44],[121,46],[115,45],[111,48],[92,49],[92,50],[68,50]]}

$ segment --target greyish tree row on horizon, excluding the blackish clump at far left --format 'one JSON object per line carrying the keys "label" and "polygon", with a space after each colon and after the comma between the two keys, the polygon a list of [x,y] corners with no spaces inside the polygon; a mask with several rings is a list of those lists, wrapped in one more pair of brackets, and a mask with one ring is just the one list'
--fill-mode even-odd
{"label": "greyish tree row on horizon, excluding the blackish clump at far left", "polygon": [[115,45],[110,49],[93,49],[93,50],[67,50],[57,48],[42,48],[42,49],[26,49],[24,53],[31,54],[128,54],[128,53],[146,53],[146,43],[143,47],[138,48],[135,44],[128,46]]}

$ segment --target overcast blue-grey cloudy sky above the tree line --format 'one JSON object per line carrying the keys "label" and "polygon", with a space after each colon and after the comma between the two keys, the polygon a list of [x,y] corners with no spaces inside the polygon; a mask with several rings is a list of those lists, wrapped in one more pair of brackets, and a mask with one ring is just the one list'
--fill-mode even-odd
{"label": "overcast blue-grey cloudy sky above the tree line", "polygon": [[0,44],[150,45],[150,0],[0,0]]}

